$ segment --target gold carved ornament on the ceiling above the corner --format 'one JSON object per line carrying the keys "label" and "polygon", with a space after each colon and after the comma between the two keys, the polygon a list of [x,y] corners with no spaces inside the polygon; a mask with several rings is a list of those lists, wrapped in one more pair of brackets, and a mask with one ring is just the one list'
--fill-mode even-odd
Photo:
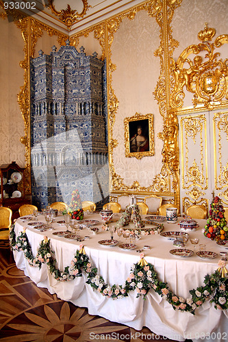
{"label": "gold carved ornament on the ceiling above the corner", "polygon": [[79,18],[84,17],[88,8],[91,7],[90,5],[88,5],[87,0],[81,0],[81,1],[84,5],[84,8],[81,11],[81,13],[77,12],[76,10],[71,10],[70,5],[67,5],[66,10],[57,11],[55,10],[55,6],[53,5],[53,0],[48,0],[48,5],[46,7],[48,7],[51,10],[51,12],[55,14],[55,16],[59,16],[60,21],[62,21],[62,23],[64,23],[67,26],[67,28],[70,30],[71,27],[75,23],[77,23],[77,21],[79,21]]}

